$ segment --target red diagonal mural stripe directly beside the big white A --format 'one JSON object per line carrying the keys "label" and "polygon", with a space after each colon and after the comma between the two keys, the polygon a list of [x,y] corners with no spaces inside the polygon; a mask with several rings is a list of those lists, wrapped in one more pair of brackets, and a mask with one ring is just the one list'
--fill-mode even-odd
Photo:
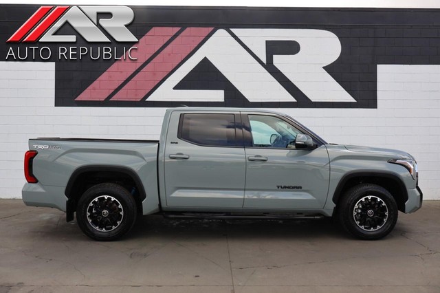
{"label": "red diagonal mural stripe directly beside the big white A", "polygon": [[139,101],[181,63],[213,28],[187,28],[130,80],[111,100]]}

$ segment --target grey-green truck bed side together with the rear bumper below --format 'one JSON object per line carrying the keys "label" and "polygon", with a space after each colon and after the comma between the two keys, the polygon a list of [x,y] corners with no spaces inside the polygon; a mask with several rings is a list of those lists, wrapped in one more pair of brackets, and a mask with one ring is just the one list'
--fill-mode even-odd
{"label": "grey-green truck bed side together with the rear bumper below", "polygon": [[[159,140],[119,140],[103,138],[32,138],[29,149],[37,154],[32,160],[32,173],[38,180],[23,188],[23,200],[32,206],[50,206],[67,210],[69,180],[83,176],[105,177],[105,172],[126,174],[142,186],[148,186],[145,213],[157,211],[157,150]],[[99,173],[99,175],[97,175]],[[83,191],[81,191],[83,192]]]}

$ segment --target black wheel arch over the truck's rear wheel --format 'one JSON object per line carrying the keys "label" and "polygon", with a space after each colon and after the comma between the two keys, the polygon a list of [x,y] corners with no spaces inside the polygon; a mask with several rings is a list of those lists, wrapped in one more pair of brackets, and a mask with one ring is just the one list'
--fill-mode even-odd
{"label": "black wheel arch over the truck's rear wheel", "polygon": [[[146,199],[145,188],[140,177],[133,169],[125,166],[88,165],[76,169],[70,176],[69,182],[67,182],[65,188],[65,195],[67,197],[66,220],[72,221],[74,219],[78,199],[90,185],[103,182],[118,183],[119,181],[124,181],[129,185],[134,184],[132,187],[135,187],[136,192],[135,194],[132,192],[132,195],[136,199],[137,208],[142,213],[142,202]],[[121,185],[123,186],[124,184]]]}

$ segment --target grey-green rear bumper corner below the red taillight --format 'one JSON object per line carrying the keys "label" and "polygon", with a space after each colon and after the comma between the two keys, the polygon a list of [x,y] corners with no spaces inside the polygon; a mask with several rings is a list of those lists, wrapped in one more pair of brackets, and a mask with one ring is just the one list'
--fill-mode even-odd
{"label": "grey-green rear bumper corner below the red taillight", "polygon": [[39,183],[26,183],[21,190],[21,196],[26,206],[45,206],[65,212],[67,197],[64,190],[61,186],[43,187]]}

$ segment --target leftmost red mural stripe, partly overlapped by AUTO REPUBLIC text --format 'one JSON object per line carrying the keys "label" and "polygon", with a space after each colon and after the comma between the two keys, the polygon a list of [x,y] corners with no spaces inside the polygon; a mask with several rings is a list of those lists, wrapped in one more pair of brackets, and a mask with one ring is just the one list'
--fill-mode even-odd
{"label": "leftmost red mural stripe, partly overlapped by AUTO REPUBLIC text", "polygon": [[125,56],[125,60],[122,58],[116,61],[75,100],[105,100],[179,30],[180,28],[152,28],[149,30],[135,45],[137,50],[133,50],[131,53],[131,56],[137,60],[131,60]]}

